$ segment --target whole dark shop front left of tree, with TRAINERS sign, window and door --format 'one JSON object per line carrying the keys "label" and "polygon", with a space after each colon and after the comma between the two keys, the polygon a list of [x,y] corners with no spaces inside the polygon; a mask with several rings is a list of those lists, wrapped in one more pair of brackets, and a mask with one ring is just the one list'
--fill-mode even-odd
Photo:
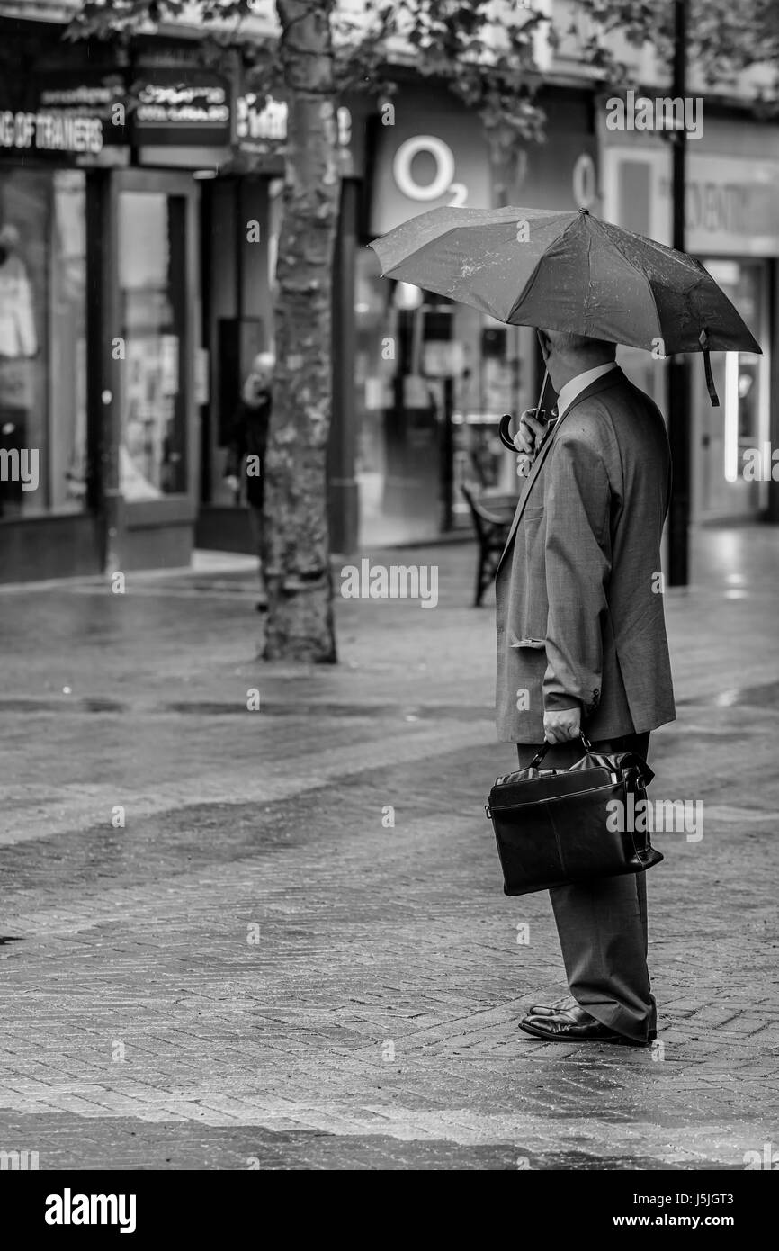
{"label": "whole dark shop front left of tree, with TRAINERS sign, window and door", "polygon": [[230,156],[230,83],[173,43],[4,34],[34,58],[0,99],[0,577],[189,563],[196,175]]}

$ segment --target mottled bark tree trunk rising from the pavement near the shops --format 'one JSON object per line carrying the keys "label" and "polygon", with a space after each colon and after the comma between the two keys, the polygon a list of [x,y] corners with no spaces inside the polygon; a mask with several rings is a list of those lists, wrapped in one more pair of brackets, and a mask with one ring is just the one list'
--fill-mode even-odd
{"label": "mottled bark tree trunk rising from the pavement near the shops", "polygon": [[340,189],[334,6],[335,0],[276,0],[289,113],[276,263],[276,367],[265,457],[268,661],[336,659],[325,477],[331,263]]}

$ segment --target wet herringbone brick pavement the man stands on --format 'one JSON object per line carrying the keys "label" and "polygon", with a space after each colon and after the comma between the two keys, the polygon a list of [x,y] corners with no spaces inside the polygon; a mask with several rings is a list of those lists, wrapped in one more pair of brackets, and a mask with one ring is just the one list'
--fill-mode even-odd
{"label": "wet herringbone brick pavement the man stands on", "polygon": [[779,1148],[779,530],[701,532],[665,597],[653,792],[705,826],[654,836],[651,1051],[516,1030],[564,982],[481,807],[513,766],[491,602],[470,608],[470,545],[365,554],[436,564],[439,604],[339,599],[328,668],[255,659],[245,568],[0,588],[0,1150],[741,1170]]}

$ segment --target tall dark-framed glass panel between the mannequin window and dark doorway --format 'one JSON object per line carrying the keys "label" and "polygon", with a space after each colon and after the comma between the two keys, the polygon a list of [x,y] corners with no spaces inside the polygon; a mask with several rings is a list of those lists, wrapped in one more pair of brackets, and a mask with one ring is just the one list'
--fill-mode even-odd
{"label": "tall dark-framed glass panel between the mannequin window and dark doorway", "polygon": [[188,564],[198,482],[199,189],[190,174],[134,169],[115,174],[113,193],[123,560],[128,568]]}

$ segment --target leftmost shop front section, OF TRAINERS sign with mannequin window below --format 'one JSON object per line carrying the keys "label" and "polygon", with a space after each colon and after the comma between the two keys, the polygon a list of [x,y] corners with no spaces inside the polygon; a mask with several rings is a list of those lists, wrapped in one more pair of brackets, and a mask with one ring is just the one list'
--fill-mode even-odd
{"label": "leftmost shop front section, OF TRAINERS sign with mannequin window below", "polygon": [[[8,53],[6,53],[8,55]],[[89,458],[88,171],[101,123],[0,86],[0,579],[100,567]]]}

